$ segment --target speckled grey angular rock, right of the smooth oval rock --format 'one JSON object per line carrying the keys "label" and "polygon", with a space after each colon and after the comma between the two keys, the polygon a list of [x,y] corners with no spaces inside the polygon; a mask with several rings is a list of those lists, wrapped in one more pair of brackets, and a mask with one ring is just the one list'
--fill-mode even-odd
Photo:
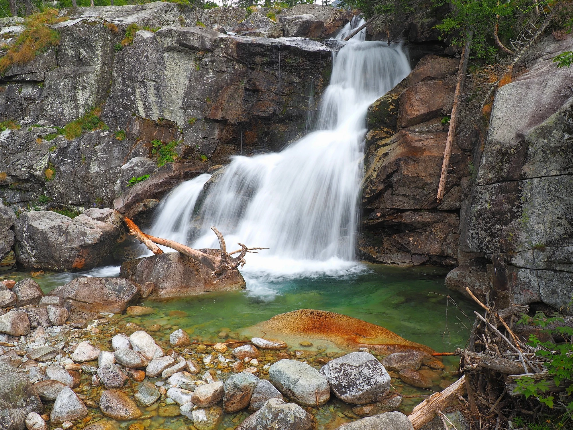
{"label": "speckled grey angular rock, right of the smooth oval rock", "polygon": [[335,358],[320,369],[336,397],[352,405],[382,400],[390,390],[390,375],[374,355],[356,352]]}

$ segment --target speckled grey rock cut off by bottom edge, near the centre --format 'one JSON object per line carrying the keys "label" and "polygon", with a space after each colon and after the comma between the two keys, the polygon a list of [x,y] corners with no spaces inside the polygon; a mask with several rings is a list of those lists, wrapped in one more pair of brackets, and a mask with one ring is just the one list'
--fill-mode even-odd
{"label": "speckled grey rock cut off by bottom edge, near the centre", "polygon": [[280,398],[270,398],[237,430],[310,430],[313,417],[296,403],[286,403]]}

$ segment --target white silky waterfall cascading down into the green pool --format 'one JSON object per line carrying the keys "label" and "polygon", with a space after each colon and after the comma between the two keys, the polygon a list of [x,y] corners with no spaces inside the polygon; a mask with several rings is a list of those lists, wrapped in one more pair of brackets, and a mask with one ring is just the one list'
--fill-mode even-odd
{"label": "white silky waterfall cascading down into the green pool", "polygon": [[[339,38],[360,22],[354,19]],[[333,57],[316,131],[278,153],[234,156],[200,208],[195,204],[209,175],[182,183],[158,209],[152,234],[216,247],[214,225],[229,248],[268,247],[246,257],[244,273],[301,276],[354,267],[366,112],[410,72],[401,46],[365,42],[364,35]]]}

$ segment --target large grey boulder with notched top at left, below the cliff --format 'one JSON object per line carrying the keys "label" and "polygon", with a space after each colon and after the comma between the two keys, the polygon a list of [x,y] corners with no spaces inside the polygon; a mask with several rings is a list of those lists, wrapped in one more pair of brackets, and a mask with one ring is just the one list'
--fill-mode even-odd
{"label": "large grey boulder with notched top at left, below the cliff", "polygon": [[37,210],[16,221],[16,260],[26,268],[91,269],[105,263],[124,233],[113,209],[88,209],[73,218]]}

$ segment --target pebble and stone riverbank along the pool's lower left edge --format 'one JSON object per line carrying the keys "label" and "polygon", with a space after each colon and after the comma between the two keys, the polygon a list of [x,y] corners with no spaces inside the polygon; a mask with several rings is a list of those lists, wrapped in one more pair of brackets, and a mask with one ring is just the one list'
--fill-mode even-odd
{"label": "pebble and stone riverbank along the pool's lower left edge", "polygon": [[[114,291],[111,279],[101,285]],[[174,324],[150,325],[164,319],[127,292],[113,303],[129,306],[96,310],[58,290],[44,296],[32,279],[0,287],[0,385],[15,387],[2,397],[10,430],[337,428],[362,425],[360,417],[411,428],[401,412],[386,412],[409,413],[425,388],[455,379],[454,369],[412,342],[388,355],[374,345],[331,350],[316,333],[298,343],[225,331],[203,341]],[[352,330],[360,330],[355,321]],[[29,398],[26,405],[17,405],[17,393]]]}

